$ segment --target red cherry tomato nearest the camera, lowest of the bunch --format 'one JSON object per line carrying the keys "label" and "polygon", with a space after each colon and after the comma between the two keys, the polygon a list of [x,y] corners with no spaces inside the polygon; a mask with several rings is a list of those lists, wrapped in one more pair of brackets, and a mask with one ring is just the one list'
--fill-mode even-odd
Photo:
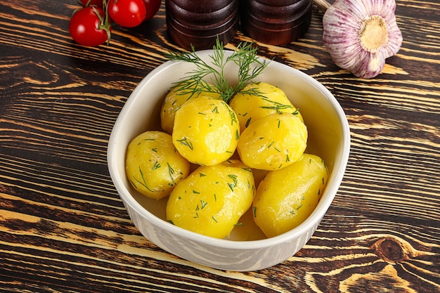
{"label": "red cherry tomato nearest the camera, lowest of the bunch", "polygon": [[[98,16],[98,13],[100,16]],[[77,11],[70,19],[69,32],[78,44],[83,46],[99,46],[110,39],[111,27],[105,19],[101,8],[89,6]]]}

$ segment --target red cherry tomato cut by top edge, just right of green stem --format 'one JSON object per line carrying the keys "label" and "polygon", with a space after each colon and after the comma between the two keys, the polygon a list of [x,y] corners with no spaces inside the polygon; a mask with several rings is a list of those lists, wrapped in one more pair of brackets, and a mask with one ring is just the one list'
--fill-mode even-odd
{"label": "red cherry tomato cut by top edge, just right of green stem", "polygon": [[146,14],[143,0],[110,0],[108,1],[108,15],[122,27],[137,27]]}

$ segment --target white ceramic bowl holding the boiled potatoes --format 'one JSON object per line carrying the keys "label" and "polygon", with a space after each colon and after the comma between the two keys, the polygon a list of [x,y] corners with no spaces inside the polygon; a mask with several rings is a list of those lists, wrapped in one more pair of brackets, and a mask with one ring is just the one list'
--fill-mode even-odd
{"label": "white ceramic bowl holding the boiled potatoes", "polygon": [[[226,52],[228,55],[228,51]],[[209,61],[212,50],[199,51]],[[256,79],[283,89],[299,108],[309,130],[308,152],[323,158],[330,176],[318,206],[301,225],[282,235],[262,240],[215,239],[184,230],[166,221],[166,199],[150,200],[138,194],[125,176],[129,142],[146,130],[160,130],[160,108],[172,82],[193,69],[190,63],[168,61],[151,71],[134,89],[117,118],[108,143],[108,168],[119,196],[136,227],[158,247],[212,268],[257,271],[274,266],[301,249],[315,232],[342,181],[349,158],[350,133],[339,103],[322,84],[292,67],[271,61]],[[230,82],[235,65],[228,66]]]}

